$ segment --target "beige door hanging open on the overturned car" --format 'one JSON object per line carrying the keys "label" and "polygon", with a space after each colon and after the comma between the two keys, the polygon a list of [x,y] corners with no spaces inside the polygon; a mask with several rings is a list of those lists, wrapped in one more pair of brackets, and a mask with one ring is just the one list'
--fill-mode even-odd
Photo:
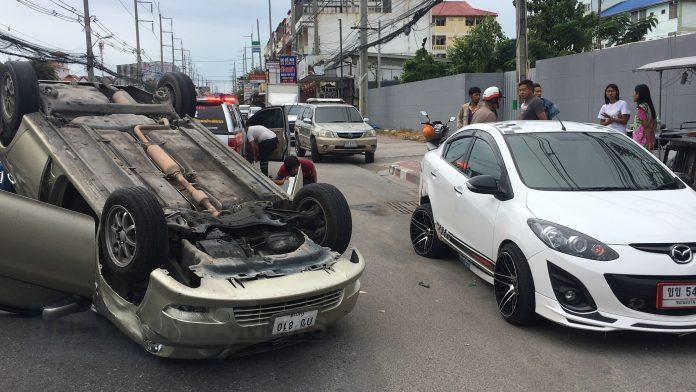
{"label": "beige door hanging open on the overturned car", "polygon": [[28,311],[95,291],[94,220],[0,191],[0,309]]}

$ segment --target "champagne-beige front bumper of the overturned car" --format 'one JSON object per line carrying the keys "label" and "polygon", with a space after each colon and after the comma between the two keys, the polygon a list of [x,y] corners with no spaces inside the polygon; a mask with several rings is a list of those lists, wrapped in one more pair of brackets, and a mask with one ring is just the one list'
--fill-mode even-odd
{"label": "champagne-beige front bumper of the overturned car", "polygon": [[[101,313],[152,354],[226,358],[263,343],[323,331],[355,306],[364,268],[363,257],[353,250],[350,259],[339,259],[330,270],[243,285],[204,278],[197,288],[178,283],[160,269],[150,275],[139,306],[121,298],[101,277],[95,302]],[[275,316],[309,310],[318,311],[312,327],[294,334],[272,334]]]}

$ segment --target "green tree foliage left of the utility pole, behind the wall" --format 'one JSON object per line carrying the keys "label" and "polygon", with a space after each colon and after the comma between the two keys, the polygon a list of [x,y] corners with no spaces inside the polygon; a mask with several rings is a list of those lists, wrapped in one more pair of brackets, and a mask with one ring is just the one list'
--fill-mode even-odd
{"label": "green tree foliage left of the utility pole, behind the wall", "polygon": [[514,57],[514,40],[506,39],[500,24],[491,17],[455,39],[447,50],[452,74],[509,70],[511,59],[514,69]]}

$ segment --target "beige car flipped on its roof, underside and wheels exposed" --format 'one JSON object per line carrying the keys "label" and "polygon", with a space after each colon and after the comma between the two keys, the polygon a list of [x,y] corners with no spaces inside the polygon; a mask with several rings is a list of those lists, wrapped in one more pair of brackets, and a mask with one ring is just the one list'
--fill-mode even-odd
{"label": "beige car flipped on its roof, underside and wheels exposed", "polygon": [[[253,352],[349,313],[365,264],[341,256],[340,191],[283,192],[193,119],[186,75],[158,87],[38,81],[5,64],[0,162],[16,194],[0,192],[0,310],[92,308],[175,358]],[[277,109],[261,120],[287,131]]]}

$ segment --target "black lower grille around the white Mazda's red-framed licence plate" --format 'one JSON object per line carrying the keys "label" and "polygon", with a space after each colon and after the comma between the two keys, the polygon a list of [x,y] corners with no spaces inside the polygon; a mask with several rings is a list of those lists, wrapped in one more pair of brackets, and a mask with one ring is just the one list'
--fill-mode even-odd
{"label": "black lower grille around the white Mazda's red-framed licence plate", "polygon": [[666,316],[696,314],[696,309],[658,309],[657,284],[660,282],[696,282],[696,276],[648,276],[605,274],[616,298],[629,309]]}

